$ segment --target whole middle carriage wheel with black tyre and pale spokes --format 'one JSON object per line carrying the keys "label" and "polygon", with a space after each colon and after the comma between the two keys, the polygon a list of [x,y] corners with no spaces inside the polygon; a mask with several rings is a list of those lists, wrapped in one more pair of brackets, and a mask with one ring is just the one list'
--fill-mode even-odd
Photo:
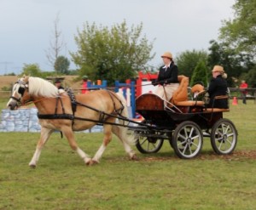
{"label": "whole middle carriage wheel with black tyre and pale spokes", "polygon": [[180,158],[197,156],[203,145],[201,128],[195,123],[185,121],[177,125],[172,137],[172,146]]}

